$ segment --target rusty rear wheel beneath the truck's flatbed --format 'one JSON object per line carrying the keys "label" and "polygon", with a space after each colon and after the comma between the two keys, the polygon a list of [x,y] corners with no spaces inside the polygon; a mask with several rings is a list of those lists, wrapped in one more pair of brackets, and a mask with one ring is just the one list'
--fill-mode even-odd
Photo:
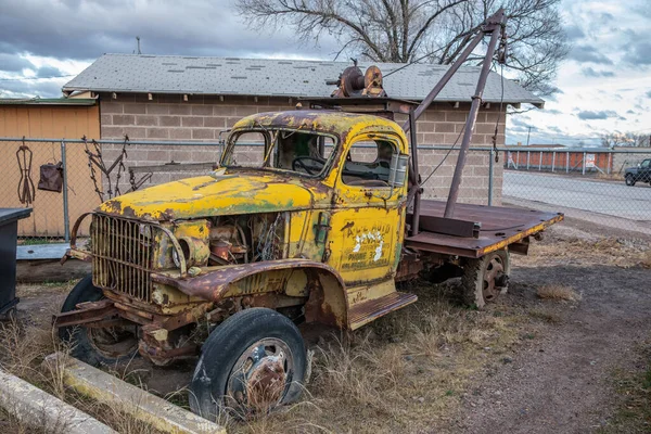
{"label": "rusty rear wheel beneath the truck's flatbed", "polygon": [[511,263],[508,251],[492,252],[478,259],[468,259],[463,265],[461,284],[463,301],[478,309],[495,302],[509,286]]}

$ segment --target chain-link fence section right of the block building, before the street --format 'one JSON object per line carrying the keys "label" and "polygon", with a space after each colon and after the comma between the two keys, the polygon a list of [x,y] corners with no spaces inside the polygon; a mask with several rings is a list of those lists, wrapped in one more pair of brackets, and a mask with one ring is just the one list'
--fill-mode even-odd
{"label": "chain-link fence section right of the block building, before the street", "polygon": [[503,204],[651,233],[651,149],[503,152]]}

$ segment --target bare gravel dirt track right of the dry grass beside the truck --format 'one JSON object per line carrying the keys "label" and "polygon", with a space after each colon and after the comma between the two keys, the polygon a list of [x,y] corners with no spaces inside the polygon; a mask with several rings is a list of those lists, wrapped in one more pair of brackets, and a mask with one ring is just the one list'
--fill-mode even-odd
{"label": "bare gravel dirt track right of the dry grass beside the truck", "polygon": [[[649,260],[649,239],[614,238],[600,245],[599,231],[580,227],[554,228],[544,248],[514,261],[505,303],[548,304],[531,289],[549,283],[574,288],[582,301],[551,306],[558,317],[512,362],[475,378],[461,410],[464,432],[651,432],[649,420],[618,420],[623,398],[615,390],[616,373],[642,369],[635,353],[651,346],[651,270],[622,253],[637,247]],[[554,255],[554,242],[574,248]]]}

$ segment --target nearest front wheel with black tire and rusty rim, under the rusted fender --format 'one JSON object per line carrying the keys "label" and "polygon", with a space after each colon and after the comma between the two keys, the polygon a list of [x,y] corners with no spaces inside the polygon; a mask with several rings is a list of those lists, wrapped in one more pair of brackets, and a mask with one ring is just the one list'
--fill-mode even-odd
{"label": "nearest front wheel with black tire and rusty rim, under the rusted fender", "polygon": [[276,310],[237,312],[208,336],[190,384],[190,408],[207,419],[222,409],[245,418],[295,401],[306,352],[301,332]]}

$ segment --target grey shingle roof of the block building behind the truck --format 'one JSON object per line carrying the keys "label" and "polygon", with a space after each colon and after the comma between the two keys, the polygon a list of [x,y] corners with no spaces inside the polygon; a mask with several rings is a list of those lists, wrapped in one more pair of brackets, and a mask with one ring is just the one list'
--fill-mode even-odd
{"label": "grey shingle roof of the block building behind the truck", "polygon": [[[361,71],[372,64],[384,75],[405,66],[401,63],[360,62]],[[151,92],[189,94],[242,94],[259,97],[328,97],[349,62],[296,61],[270,59],[192,58],[143,54],[104,54],[63,91]],[[384,80],[392,98],[422,100],[447,66],[412,64]],[[436,101],[470,101],[480,68],[464,66],[455,74]],[[544,104],[544,101],[515,81],[503,80],[507,103]],[[484,101],[497,103],[501,97],[501,80],[490,73]]]}

